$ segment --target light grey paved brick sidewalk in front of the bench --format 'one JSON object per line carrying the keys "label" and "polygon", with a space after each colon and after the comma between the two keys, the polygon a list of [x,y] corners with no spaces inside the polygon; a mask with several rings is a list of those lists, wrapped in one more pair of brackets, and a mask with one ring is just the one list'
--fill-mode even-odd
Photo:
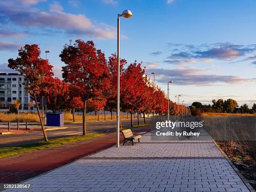
{"label": "light grey paved brick sidewalk in front of the bench", "polygon": [[151,142],[150,133],[25,183],[37,192],[249,191],[212,141]]}

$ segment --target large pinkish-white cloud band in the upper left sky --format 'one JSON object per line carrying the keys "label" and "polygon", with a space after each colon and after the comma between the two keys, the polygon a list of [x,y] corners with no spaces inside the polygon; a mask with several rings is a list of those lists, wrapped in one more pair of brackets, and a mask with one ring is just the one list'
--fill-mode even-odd
{"label": "large pinkish-white cloud band in the upper left sky", "polygon": [[55,28],[69,34],[87,35],[96,38],[114,39],[116,37],[114,27],[102,23],[95,25],[82,14],[65,13],[61,11],[61,6],[58,4],[52,5],[51,11],[54,12],[44,12],[36,8],[24,9],[4,4],[0,6],[0,12],[5,20],[22,27]]}

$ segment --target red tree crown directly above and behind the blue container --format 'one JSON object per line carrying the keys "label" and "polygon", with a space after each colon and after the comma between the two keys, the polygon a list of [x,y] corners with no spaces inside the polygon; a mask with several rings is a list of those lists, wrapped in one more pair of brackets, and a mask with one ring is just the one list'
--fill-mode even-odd
{"label": "red tree crown directly above and behind the blue container", "polygon": [[54,78],[48,85],[47,91],[44,92],[44,97],[47,108],[53,112],[66,110],[69,101],[69,86],[59,78]]}

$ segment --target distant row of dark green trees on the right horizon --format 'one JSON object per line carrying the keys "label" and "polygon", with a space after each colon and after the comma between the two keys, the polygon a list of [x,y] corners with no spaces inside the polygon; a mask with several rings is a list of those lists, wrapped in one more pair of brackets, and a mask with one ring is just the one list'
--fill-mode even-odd
{"label": "distant row of dark green trees on the right horizon", "polygon": [[194,109],[200,109],[202,112],[216,112],[216,113],[256,113],[256,103],[253,103],[251,109],[247,104],[240,107],[236,100],[233,99],[218,99],[212,100],[212,105],[202,105],[200,102],[193,102]]}

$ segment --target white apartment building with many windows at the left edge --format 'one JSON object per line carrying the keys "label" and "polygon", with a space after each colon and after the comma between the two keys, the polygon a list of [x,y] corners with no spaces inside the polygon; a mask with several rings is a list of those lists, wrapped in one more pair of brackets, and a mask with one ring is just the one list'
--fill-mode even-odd
{"label": "white apartment building with many windows at the left edge", "polygon": [[18,73],[0,73],[0,102],[4,107],[0,110],[8,110],[7,104],[12,104],[14,100],[19,99],[21,105],[19,110],[33,110],[29,108],[28,103],[31,102],[30,95],[26,92],[24,85],[24,76]]}

